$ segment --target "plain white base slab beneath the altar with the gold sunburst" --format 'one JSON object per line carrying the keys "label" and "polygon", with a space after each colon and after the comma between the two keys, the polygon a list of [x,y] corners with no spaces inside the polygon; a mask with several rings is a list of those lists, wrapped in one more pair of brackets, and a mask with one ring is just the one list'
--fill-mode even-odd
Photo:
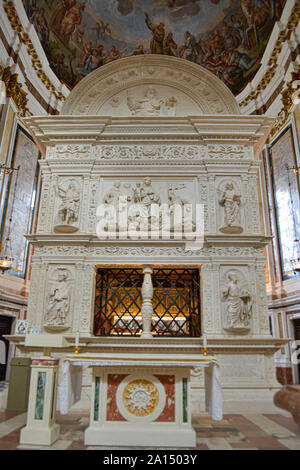
{"label": "plain white base slab beneath the altar with the gold sunburst", "polygon": [[152,424],[139,427],[118,423],[102,428],[88,427],[84,433],[84,443],[87,446],[196,447],[196,433],[190,427],[184,429],[183,426]]}

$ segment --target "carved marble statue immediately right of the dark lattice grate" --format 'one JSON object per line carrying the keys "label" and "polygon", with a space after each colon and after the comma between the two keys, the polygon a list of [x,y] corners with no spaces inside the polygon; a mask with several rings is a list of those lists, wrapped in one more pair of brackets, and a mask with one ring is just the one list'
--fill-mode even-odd
{"label": "carved marble statue immediately right of the dark lattice grate", "polygon": [[228,331],[249,331],[252,314],[252,300],[249,291],[242,288],[234,272],[227,274],[227,288],[222,292],[226,301],[226,320]]}

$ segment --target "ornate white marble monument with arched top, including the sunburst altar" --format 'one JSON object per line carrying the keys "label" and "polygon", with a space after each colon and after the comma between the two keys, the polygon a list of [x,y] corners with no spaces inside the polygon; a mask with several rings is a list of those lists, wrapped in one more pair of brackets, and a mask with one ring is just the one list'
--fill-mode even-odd
{"label": "ornate white marble monument with arched top, including the sunburst altar", "polygon": [[[194,445],[190,415],[203,409],[202,365],[211,355],[225,407],[271,401],[281,343],[268,325],[269,239],[255,159],[270,119],[241,115],[228,88],[200,66],[148,55],[100,67],[74,88],[61,115],[26,123],[44,153],[38,228],[28,237],[28,331],[50,342],[63,335],[69,346],[54,341],[52,349],[61,368],[67,360],[93,369],[86,443],[113,445],[117,426],[118,445]],[[188,221],[183,234],[178,214]],[[189,270],[200,273],[193,307]],[[111,300],[109,287],[119,289]],[[30,344],[19,347],[36,356]]]}

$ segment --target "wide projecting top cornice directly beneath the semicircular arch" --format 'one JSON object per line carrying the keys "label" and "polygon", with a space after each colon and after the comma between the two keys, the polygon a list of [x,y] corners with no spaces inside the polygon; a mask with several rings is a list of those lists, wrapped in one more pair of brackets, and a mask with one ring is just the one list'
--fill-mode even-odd
{"label": "wide projecting top cornice directly beneath the semicircular arch", "polygon": [[[47,116],[25,119],[42,147],[58,144],[109,142],[182,142],[258,145],[265,142],[273,119],[265,116],[198,116],[186,118],[111,118],[101,116]],[[121,131],[122,132],[121,133]],[[160,132],[157,132],[157,129]],[[181,130],[179,133],[178,129]],[[126,130],[126,132],[125,132]]]}

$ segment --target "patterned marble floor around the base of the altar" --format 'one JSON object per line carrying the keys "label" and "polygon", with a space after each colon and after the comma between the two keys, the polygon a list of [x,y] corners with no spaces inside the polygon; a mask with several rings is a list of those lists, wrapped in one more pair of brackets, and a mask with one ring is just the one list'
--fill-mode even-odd
{"label": "patterned marble floor around the base of the altar", "polygon": [[[83,433],[89,417],[81,413],[57,414],[61,425],[60,438],[50,450],[129,449],[128,447],[88,447]],[[45,447],[19,445],[19,433],[26,423],[26,413],[0,410],[0,451]],[[300,450],[300,428],[288,413],[225,414],[222,421],[212,421],[208,415],[194,417],[197,450]],[[151,449],[149,447],[138,449]],[[156,448],[157,450],[157,448]]]}

